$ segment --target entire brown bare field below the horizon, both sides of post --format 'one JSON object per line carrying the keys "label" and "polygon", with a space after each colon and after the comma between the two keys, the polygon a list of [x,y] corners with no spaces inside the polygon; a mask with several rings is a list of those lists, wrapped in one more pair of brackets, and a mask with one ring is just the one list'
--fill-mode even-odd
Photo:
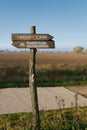
{"label": "entire brown bare field below the horizon, both sides of post", "polygon": [[[29,64],[29,53],[0,53],[0,66],[26,66]],[[86,65],[87,54],[37,52],[36,64]]]}

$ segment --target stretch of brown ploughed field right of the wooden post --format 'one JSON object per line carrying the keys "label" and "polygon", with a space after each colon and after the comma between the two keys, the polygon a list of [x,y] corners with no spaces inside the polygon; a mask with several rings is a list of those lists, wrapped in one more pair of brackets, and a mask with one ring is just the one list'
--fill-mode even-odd
{"label": "stretch of brown ploughed field right of the wooden post", "polygon": [[41,53],[37,54],[38,64],[87,64],[86,54]]}

